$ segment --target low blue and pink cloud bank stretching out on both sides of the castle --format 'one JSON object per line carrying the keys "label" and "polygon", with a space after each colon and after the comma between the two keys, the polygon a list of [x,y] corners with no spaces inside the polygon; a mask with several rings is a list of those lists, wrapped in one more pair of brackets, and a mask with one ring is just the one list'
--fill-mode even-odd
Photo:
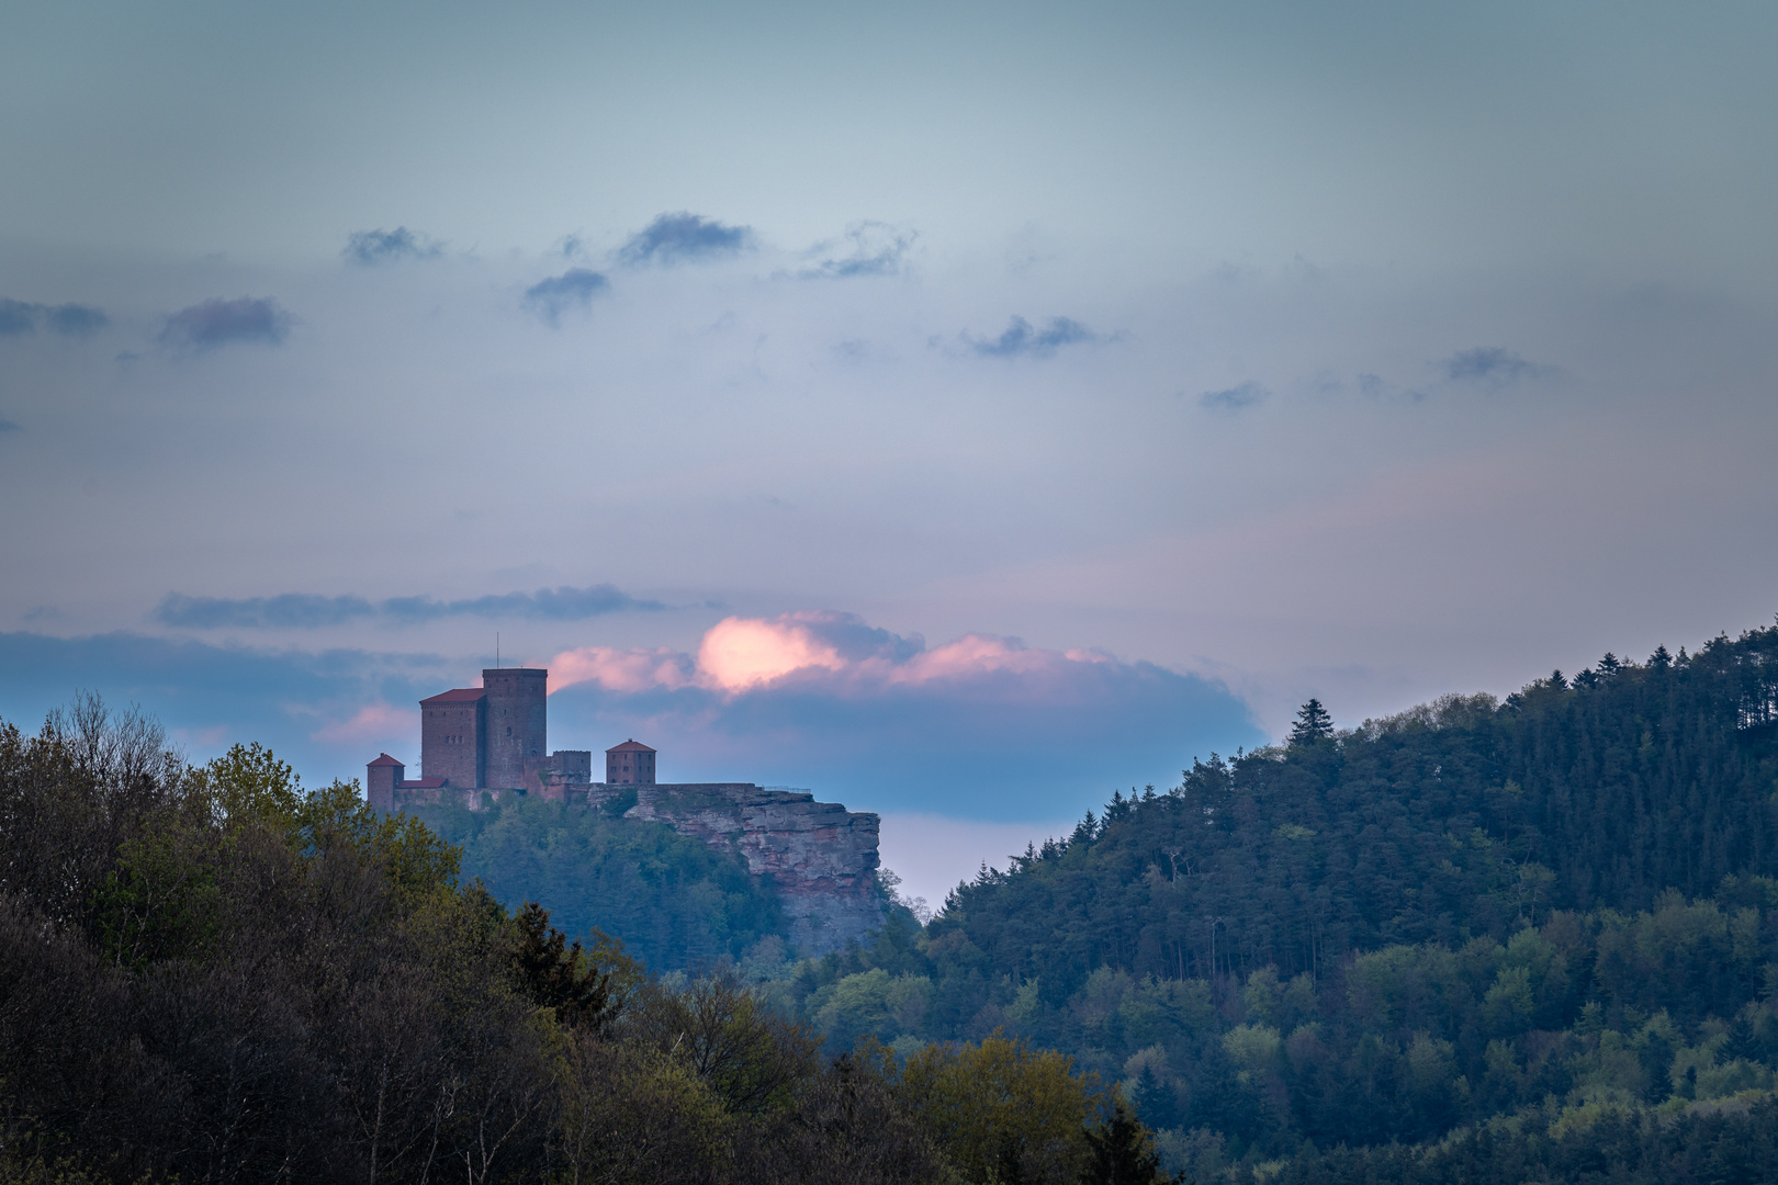
{"label": "low blue and pink cloud bank stretching out on both sides of the castle", "polygon": [[[1005,821],[1077,817],[1111,789],[1177,783],[1193,755],[1264,741],[1221,684],[1092,650],[985,634],[928,648],[843,613],[729,618],[706,643],[548,659],[549,746],[633,736],[661,750],[674,782]],[[0,632],[0,718],[32,730],[94,689],[140,704],[201,744],[197,759],[261,741],[309,783],[361,778],[379,750],[416,757],[412,705],[473,677],[427,654]]]}

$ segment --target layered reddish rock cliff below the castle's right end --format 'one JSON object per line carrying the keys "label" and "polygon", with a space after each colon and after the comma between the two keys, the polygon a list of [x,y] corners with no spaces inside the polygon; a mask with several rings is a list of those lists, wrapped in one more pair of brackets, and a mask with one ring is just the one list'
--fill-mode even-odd
{"label": "layered reddish rock cliff below the castle's right end", "polygon": [[626,819],[665,823],[718,851],[740,853],[754,876],[770,878],[804,954],[836,950],[884,924],[877,815],[750,782],[601,783],[587,791],[587,803],[599,807],[628,794],[637,805]]}

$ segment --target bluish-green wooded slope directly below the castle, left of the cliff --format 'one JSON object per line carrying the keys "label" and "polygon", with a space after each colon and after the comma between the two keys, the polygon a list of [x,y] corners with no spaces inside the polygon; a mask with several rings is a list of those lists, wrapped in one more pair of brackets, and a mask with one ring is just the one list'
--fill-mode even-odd
{"label": "bluish-green wooded slope directly below the castle, left of the cliff", "polygon": [[612,934],[654,968],[738,959],[789,933],[775,892],[740,856],[661,823],[535,799],[395,817],[461,844],[462,872],[509,906],[535,901],[564,931]]}

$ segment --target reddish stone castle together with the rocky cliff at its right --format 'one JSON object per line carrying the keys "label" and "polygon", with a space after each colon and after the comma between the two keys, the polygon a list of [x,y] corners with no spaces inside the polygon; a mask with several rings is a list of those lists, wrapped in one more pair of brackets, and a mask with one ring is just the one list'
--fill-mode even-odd
{"label": "reddish stone castle together with the rocky cliff at its right", "polygon": [[546,753],[549,672],[482,672],[480,688],[420,700],[420,775],[380,753],[364,767],[370,805],[396,812],[455,803],[484,810],[509,796],[621,810],[734,853],[770,879],[791,919],[791,938],[823,954],[882,926],[877,888],[878,817],[818,803],[802,791],[752,782],[654,780],[658,753],[635,739],[605,750],[592,780],[590,750]]}

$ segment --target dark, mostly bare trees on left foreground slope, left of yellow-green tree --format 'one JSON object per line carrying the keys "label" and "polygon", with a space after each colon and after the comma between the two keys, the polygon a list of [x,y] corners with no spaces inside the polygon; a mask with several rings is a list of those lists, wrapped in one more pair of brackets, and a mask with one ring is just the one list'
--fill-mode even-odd
{"label": "dark, mostly bare trees on left foreground slope, left of yellow-green tree", "polygon": [[651,979],[350,783],[85,707],[0,725],[0,1181],[957,1180],[736,972]]}

